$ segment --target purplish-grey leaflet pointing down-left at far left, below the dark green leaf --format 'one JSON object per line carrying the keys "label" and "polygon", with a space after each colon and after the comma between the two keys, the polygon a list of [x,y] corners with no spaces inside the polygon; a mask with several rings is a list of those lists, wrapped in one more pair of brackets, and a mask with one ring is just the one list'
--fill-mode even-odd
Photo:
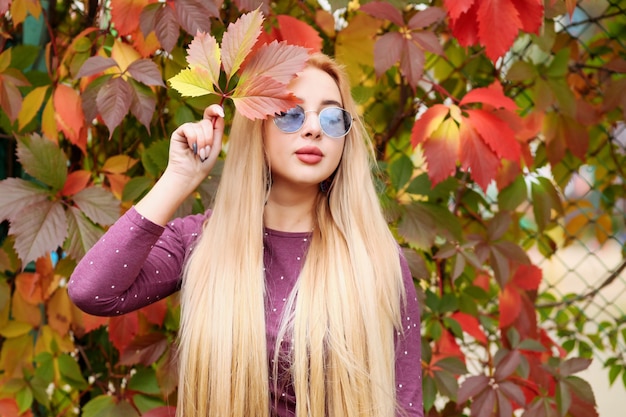
{"label": "purplish-grey leaflet pointing down-left at far left, below the dark green leaf", "polygon": [[17,216],[9,227],[15,236],[15,251],[26,265],[57,250],[67,236],[67,217],[58,201],[32,204]]}

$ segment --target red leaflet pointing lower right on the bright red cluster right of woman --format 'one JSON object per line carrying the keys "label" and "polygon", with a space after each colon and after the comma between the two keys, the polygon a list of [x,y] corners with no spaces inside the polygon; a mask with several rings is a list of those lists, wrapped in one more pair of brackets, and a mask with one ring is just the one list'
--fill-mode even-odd
{"label": "red leaflet pointing lower right on the bright red cluster right of woman", "polygon": [[519,161],[521,146],[515,132],[504,120],[486,110],[465,110],[463,121],[473,126],[481,139],[500,158]]}

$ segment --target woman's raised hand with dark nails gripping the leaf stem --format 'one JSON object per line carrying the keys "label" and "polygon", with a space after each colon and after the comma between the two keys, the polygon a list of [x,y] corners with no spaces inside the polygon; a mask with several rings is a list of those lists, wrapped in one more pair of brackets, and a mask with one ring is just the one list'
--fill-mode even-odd
{"label": "woman's raised hand with dark nails gripping the leaf stem", "polygon": [[213,104],[202,120],[185,123],[172,133],[166,172],[186,177],[196,186],[209,175],[222,149],[224,109]]}

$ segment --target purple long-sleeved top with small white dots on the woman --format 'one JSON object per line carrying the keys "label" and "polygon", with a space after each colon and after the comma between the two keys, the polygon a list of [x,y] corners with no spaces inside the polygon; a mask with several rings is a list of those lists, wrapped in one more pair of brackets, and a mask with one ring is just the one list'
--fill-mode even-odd
{"label": "purple long-sleeved top with small white dots on the woman", "polygon": [[[208,215],[177,218],[163,227],[131,208],[79,262],[68,285],[70,298],[87,313],[115,316],[178,291],[186,258]],[[268,363],[274,355],[283,306],[300,273],[309,237],[309,233],[265,231]],[[398,416],[423,417],[419,306],[406,260],[400,259],[407,304],[402,316],[404,331],[396,337]],[[269,390],[272,414],[295,416],[291,384],[277,388],[270,384]]]}

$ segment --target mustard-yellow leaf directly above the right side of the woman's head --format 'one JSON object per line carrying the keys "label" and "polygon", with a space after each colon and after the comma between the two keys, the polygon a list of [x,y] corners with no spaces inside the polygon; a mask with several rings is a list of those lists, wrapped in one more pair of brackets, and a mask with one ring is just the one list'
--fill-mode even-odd
{"label": "mustard-yellow leaf directly above the right side of the woman's head", "polygon": [[352,85],[359,85],[361,65],[374,64],[374,39],[382,21],[366,14],[357,14],[345,29],[337,34],[335,57],[346,66]]}

